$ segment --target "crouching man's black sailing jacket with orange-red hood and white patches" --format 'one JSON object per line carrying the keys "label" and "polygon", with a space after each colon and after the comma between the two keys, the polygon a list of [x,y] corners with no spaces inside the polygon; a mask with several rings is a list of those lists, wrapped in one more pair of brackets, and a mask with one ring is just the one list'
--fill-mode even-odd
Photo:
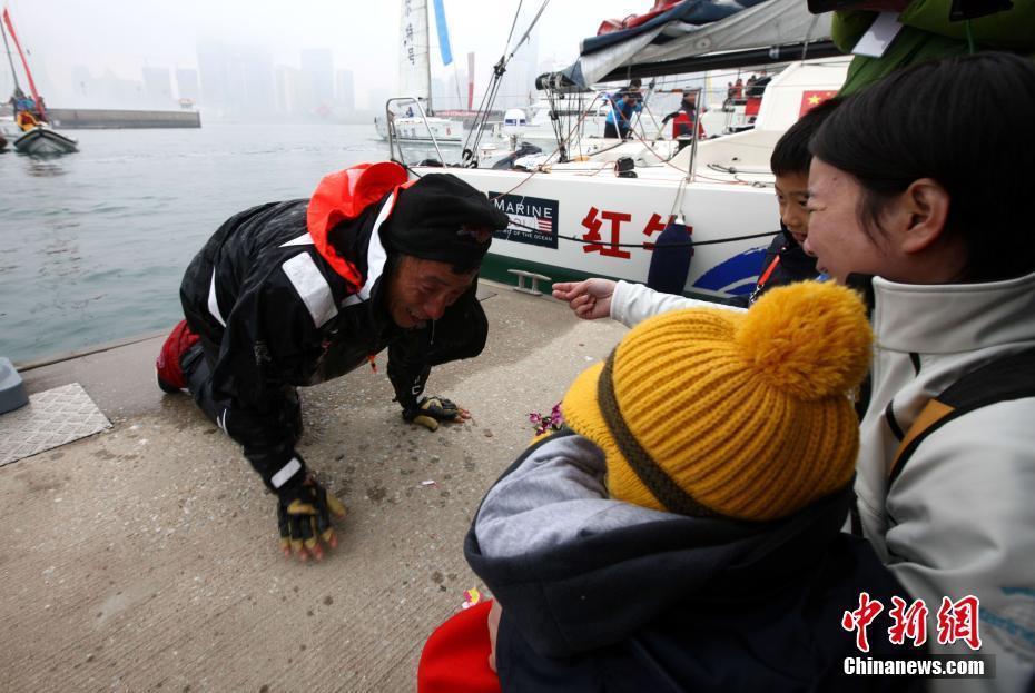
{"label": "crouching man's black sailing jacket with orange-red hood and white patches", "polygon": [[397,258],[378,231],[405,177],[395,164],[361,165],[325,178],[312,200],[253,207],[223,224],[187,268],[180,299],[211,367],[217,423],[270,488],[297,457],[295,386],[344,375],[387,347],[406,409],[432,366],[485,345],[474,284],[436,321],[404,330],[390,317],[384,294]]}

